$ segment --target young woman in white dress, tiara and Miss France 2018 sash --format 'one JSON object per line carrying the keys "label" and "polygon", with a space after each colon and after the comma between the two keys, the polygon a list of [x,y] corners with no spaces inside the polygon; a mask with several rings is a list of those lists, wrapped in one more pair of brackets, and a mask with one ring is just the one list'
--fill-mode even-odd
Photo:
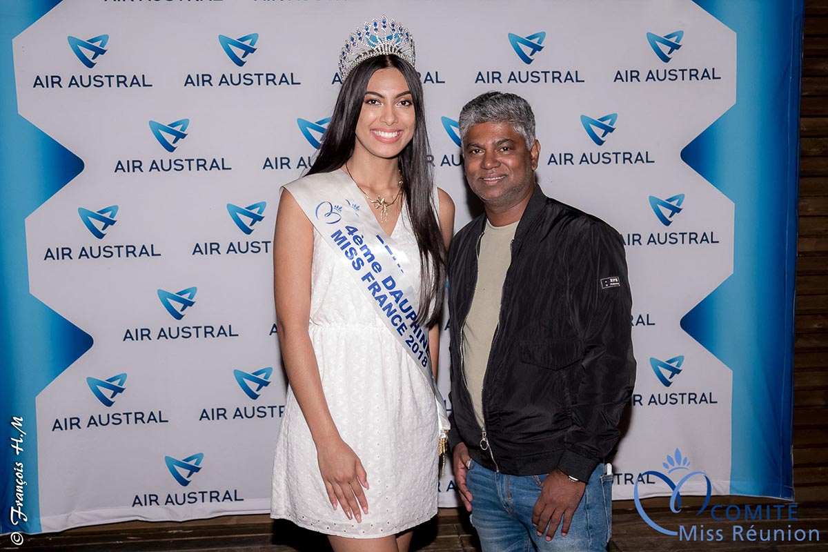
{"label": "young woman in white dress, tiara and Miss France 2018 sash", "polygon": [[319,155],[286,185],[277,216],[290,389],[271,516],[329,535],[337,552],[408,550],[437,508],[445,412],[427,361],[436,371],[454,204],[426,163],[413,64],[411,36],[385,17],[349,37]]}

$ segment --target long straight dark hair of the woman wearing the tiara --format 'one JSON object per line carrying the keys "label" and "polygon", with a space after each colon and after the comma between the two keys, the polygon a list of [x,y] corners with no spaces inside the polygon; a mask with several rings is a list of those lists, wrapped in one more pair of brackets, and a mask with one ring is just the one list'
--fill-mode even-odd
{"label": "long straight dark hair of the woman wearing the tiara", "polygon": [[434,178],[426,156],[431,153],[426,132],[420,77],[406,60],[397,55],[378,55],[357,65],[345,79],[319,153],[308,175],[337,170],[354,155],[357,121],[362,110],[368,80],[375,71],[393,68],[406,79],[414,103],[414,136],[398,159],[402,173],[402,192],[420,249],[420,314],[417,323],[431,327],[439,322],[445,294],[445,243],[434,214]]}

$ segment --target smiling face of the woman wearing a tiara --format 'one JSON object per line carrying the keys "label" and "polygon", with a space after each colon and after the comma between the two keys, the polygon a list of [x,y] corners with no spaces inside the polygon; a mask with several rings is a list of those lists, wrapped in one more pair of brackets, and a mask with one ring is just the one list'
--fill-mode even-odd
{"label": "smiling face of the woman wearing a tiara", "polygon": [[356,128],[357,150],[392,159],[414,136],[414,103],[405,77],[393,68],[380,69],[368,80]]}

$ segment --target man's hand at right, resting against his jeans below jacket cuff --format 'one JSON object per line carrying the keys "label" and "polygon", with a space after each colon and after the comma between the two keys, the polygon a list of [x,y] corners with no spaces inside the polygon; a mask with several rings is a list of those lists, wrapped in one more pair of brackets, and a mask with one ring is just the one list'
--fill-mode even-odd
{"label": "man's hand at right, resting against his jeans below jacket cuff", "polygon": [[585,488],[585,482],[572,482],[566,473],[552,470],[544,479],[541,496],[537,497],[532,509],[532,525],[537,529],[537,535],[546,534],[546,540],[552,540],[561,520],[561,535],[566,535]]}

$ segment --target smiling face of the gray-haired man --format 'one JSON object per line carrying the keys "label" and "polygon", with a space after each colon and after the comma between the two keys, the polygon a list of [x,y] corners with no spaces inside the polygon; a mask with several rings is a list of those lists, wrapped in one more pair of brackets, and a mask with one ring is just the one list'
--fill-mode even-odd
{"label": "smiling face of the gray-haired man", "polygon": [[510,122],[480,122],[463,137],[466,180],[486,209],[505,211],[528,201],[535,189],[541,144],[527,148]]}

